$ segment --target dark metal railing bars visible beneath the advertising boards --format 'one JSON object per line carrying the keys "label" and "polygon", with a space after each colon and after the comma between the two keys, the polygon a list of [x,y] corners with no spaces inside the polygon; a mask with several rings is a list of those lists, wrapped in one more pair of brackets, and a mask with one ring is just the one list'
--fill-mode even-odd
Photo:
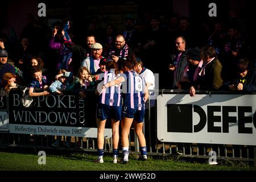
{"label": "dark metal railing bars visible beneath the advertising boards", "polygon": [[[83,138],[81,139],[81,146],[77,146],[77,137],[72,137],[71,146],[65,147],[65,137],[62,137],[59,147],[52,147],[54,142],[53,136],[44,135],[29,135],[29,134],[9,134],[1,133],[1,147],[26,147],[39,150],[40,148],[69,150],[69,151],[97,151],[96,138]],[[130,138],[130,150],[133,154],[138,154],[138,142]],[[179,148],[181,146],[181,148]],[[150,146],[152,148],[152,146]],[[199,143],[170,143],[170,142],[158,142],[155,151],[148,151],[149,155],[173,155],[176,156],[173,150],[181,150],[183,157],[190,158],[209,158],[210,151],[217,151],[217,159],[233,159],[254,161],[254,146],[232,146],[226,144],[216,144],[213,147],[212,144],[199,144]],[[104,149],[106,152],[112,152],[112,138],[105,139]]]}

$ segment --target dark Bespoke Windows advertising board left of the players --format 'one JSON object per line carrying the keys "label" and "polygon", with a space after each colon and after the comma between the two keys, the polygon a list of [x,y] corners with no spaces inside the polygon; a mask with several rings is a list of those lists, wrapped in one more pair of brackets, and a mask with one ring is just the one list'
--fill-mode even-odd
{"label": "dark Bespoke Windows advertising board left of the players", "polygon": [[[24,107],[19,90],[12,90],[7,99],[2,97],[6,103],[0,111],[0,122],[5,125],[0,125],[0,131],[97,138],[96,98],[93,92],[86,94],[85,99],[73,95],[34,97],[31,106]],[[112,136],[110,128],[111,122],[106,124],[104,137]]]}

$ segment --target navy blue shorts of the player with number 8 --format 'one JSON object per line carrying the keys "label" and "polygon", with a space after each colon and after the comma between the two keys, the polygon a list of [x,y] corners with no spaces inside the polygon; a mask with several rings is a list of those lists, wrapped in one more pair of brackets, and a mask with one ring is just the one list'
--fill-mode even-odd
{"label": "navy blue shorts of the player with number 8", "polygon": [[123,107],[122,118],[134,118],[135,121],[141,123],[144,121],[145,110],[131,109],[130,107]]}

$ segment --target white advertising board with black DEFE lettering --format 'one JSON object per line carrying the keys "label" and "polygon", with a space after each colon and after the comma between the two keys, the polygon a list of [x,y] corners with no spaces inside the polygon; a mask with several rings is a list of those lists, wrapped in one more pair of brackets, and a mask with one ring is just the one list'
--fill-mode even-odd
{"label": "white advertising board with black DEFE lettering", "polygon": [[157,100],[162,142],[256,145],[254,94],[163,94]]}

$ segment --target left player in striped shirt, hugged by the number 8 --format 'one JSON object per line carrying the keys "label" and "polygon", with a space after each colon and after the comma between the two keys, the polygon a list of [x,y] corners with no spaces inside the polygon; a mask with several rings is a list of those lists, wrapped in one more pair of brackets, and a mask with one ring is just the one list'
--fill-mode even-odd
{"label": "left player in striped shirt, hugged by the number 8", "polygon": [[[98,80],[102,80],[98,84],[98,88],[115,79],[118,74],[118,64],[109,61],[106,64],[107,71],[100,74]],[[111,70],[110,70],[111,69]],[[110,86],[108,89],[102,90],[97,104],[97,139],[98,139],[98,159],[96,162],[103,163],[104,155],[104,129],[106,120],[112,119],[113,134],[113,163],[117,163],[118,142],[119,142],[119,121],[122,114],[122,94],[121,84]],[[96,92],[97,93],[97,92]]]}

